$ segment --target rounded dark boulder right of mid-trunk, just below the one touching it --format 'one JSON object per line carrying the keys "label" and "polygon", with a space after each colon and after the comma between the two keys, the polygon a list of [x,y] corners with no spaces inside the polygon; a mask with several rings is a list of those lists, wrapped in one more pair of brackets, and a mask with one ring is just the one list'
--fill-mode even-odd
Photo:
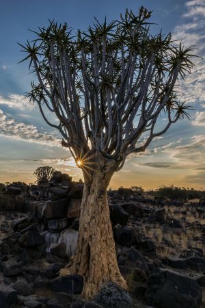
{"label": "rounded dark boulder right of mid-trunk, just below the one touching it", "polygon": [[115,241],[122,246],[131,246],[140,241],[140,235],[133,227],[124,226],[114,229]]}

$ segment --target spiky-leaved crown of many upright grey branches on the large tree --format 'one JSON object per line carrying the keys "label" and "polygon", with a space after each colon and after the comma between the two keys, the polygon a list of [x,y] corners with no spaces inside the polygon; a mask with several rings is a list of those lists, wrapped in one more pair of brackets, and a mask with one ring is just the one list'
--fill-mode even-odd
{"label": "spiky-leaved crown of many upright grey branches on the large tree", "polygon": [[[38,103],[47,124],[63,136],[76,161],[90,149],[119,161],[145,151],[191,109],[178,99],[176,84],[191,72],[191,51],[174,44],[171,34],[150,34],[152,12],[126,10],[118,21],[87,31],[50,21],[23,51],[36,75],[27,97]],[[59,125],[47,112],[55,113]],[[156,129],[161,115],[165,127]]]}

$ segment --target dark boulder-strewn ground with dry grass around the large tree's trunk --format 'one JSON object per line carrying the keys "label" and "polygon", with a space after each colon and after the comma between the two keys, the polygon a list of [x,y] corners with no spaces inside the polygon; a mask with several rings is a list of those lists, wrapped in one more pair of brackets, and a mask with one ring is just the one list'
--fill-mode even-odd
{"label": "dark boulder-strewn ground with dry grass around the large tree's trunk", "polygon": [[0,308],[205,307],[204,201],[126,189],[109,192],[109,207],[128,294],[109,285],[85,302],[82,277],[68,274],[82,193],[83,183],[62,183],[60,175],[42,188],[14,183],[1,192]]}

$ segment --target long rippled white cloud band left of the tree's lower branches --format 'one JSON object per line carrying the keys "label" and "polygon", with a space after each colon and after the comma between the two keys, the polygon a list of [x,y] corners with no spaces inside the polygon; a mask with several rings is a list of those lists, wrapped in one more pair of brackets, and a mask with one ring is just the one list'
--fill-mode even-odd
{"label": "long rippled white cloud band left of the tree's lower branches", "polygon": [[2,110],[0,110],[0,136],[45,144],[46,146],[61,146],[61,140],[57,138],[55,132],[40,132],[31,124],[8,118]]}

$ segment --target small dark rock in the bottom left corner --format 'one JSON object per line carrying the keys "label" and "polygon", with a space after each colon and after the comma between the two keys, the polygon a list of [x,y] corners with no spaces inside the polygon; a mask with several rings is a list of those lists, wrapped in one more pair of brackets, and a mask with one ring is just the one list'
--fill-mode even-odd
{"label": "small dark rock in the bottom left corner", "polygon": [[10,308],[16,303],[17,292],[5,285],[0,285],[0,307],[1,308]]}

